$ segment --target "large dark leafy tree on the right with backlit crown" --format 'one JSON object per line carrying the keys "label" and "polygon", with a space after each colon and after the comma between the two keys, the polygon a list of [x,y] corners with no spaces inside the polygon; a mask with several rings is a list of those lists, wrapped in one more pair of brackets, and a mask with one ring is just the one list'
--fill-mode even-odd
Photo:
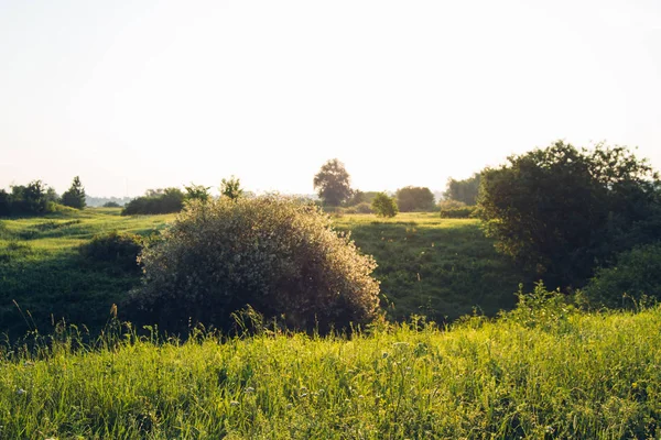
{"label": "large dark leafy tree on the right with backlit crown", "polygon": [[556,286],[661,237],[658,175],[626,147],[559,141],[481,173],[477,215],[497,248]]}

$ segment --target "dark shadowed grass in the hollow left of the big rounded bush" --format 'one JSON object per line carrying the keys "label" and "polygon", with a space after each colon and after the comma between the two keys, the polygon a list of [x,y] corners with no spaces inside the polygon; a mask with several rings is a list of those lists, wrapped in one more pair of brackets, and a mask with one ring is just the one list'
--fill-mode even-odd
{"label": "dark shadowed grass in the hollow left of the big rounded bush", "polygon": [[10,338],[35,328],[51,332],[62,319],[95,332],[112,304],[140,282],[139,270],[86,261],[75,250],[43,254],[21,244],[0,255],[0,322]]}

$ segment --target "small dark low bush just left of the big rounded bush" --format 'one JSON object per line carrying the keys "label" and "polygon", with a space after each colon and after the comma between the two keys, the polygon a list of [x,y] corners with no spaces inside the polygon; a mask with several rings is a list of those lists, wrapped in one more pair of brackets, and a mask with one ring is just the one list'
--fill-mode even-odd
{"label": "small dark low bush just left of the big rounded bush", "polygon": [[138,271],[138,255],[142,243],[140,235],[112,231],[95,235],[89,243],[80,245],[78,251],[86,258],[115,263],[126,271]]}

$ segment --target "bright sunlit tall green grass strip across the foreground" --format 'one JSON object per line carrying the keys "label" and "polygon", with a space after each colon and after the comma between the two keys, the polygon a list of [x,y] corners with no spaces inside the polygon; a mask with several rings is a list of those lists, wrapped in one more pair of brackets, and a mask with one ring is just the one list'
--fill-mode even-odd
{"label": "bright sunlit tall green grass strip across the foreground", "polygon": [[661,308],[545,316],[350,340],[58,334],[1,352],[0,438],[659,438]]}

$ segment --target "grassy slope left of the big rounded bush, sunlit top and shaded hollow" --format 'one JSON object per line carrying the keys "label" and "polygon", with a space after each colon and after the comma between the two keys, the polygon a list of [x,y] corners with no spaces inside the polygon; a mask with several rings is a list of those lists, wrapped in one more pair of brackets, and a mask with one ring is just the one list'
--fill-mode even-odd
{"label": "grassy slope left of the big rounded bush, sunlit top and shaded hollow", "polygon": [[[1,332],[52,329],[52,321],[99,328],[139,274],[82,258],[78,246],[112,230],[149,235],[174,216],[120,217],[120,209],[87,209],[42,218],[0,220]],[[21,307],[25,319],[13,301]],[[31,316],[28,316],[28,311]]]}

